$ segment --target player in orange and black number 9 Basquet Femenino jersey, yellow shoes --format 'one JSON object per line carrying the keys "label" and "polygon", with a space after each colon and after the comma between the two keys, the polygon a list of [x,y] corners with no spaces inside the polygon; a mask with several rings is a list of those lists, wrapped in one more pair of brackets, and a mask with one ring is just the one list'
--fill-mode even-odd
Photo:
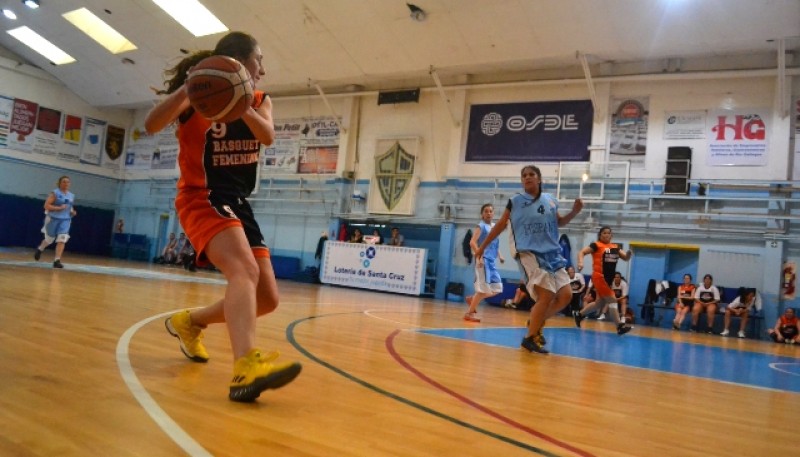
{"label": "player in orange and black number 9 Basquet Femenino jersey, yellow shoes", "polygon": [[[196,52],[167,70],[170,79],[162,92],[167,96],[145,119],[151,134],[177,122],[180,178],[175,208],[197,252],[197,263],[213,263],[228,281],[224,298],[204,308],[173,314],[165,325],[178,338],[186,357],[204,363],[209,355],[202,343],[203,330],[224,322],[234,357],[228,397],[251,402],[264,390],[291,382],[302,368],[296,362],[279,362],[277,352],[267,353],[256,346],[256,317],[275,311],[278,288],[269,249],[246,197],[255,187],[261,145],[270,145],[275,139],[272,102],[264,92],[253,90],[252,103],[236,118],[226,114],[226,122],[219,122],[201,115],[197,103],[190,103],[187,78],[191,79],[193,69],[212,67],[232,78],[236,73],[233,68],[203,62],[211,56],[227,56],[244,66],[250,89],[265,74],[255,38],[231,32],[213,51]],[[196,96],[192,98],[195,102]],[[202,112],[222,111],[227,102],[212,105],[219,106],[204,106]]]}

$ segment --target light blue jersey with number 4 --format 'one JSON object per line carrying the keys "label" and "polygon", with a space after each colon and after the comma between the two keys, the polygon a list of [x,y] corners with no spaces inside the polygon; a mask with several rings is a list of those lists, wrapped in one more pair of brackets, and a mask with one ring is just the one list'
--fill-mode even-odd
{"label": "light blue jersey with number 4", "polygon": [[558,200],[542,193],[539,198],[519,193],[508,200],[511,233],[518,252],[532,252],[541,268],[556,271],[566,267],[558,243]]}

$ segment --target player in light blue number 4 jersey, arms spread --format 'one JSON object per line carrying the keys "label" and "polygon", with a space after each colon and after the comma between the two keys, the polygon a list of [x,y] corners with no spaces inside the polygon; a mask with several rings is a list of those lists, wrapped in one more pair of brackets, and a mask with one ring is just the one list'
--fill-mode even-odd
{"label": "player in light blue number 4 jersey, arms spread", "polygon": [[566,225],[583,209],[575,200],[566,216],[558,214],[558,201],[542,192],[542,172],[538,167],[522,168],[524,192],[508,200],[506,210],[475,252],[480,259],[489,244],[511,223],[511,235],[517,262],[522,270],[528,293],[536,302],[531,308],[528,332],[521,346],[528,351],[547,354],[542,328],[547,318],[555,315],[572,299],[572,288],[558,244],[558,228]]}

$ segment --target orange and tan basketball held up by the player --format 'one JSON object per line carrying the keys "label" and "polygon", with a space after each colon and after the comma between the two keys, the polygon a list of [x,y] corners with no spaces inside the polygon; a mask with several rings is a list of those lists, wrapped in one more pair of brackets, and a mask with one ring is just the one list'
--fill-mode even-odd
{"label": "orange and tan basketball held up by the player", "polygon": [[238,60],[211,56],[200,61],[186,80],[189,102],[206,119],[232,122],[253,103],[250,73]]}

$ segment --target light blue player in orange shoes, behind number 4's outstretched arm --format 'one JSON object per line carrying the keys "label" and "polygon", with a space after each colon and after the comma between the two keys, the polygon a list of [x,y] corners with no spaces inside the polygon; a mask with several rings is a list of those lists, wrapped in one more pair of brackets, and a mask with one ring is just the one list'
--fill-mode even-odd
{"label": "light blue player in orange shoes, behind number 4's outstretched arm", "polygon": [[[494,206],[487,203],[481,206],[481,221],[478,222],[478,227],[472,234],[472,239],[469,242],[472,252],[478,250],[480,243],[486,239],[486,236],[494,227]],[[497,271],[497,260],[500,263],[505,262],[505,259],[498,250],[500,240],[495,239],[486,246],[483,257],[478,257],[475,260],[475,295],[466,298],[469,309],[464,314],[464,320],[470,322],[480,322],[478,317],[478,304],[484,298],[493,297],[503,291],[503,280],[500,278],[500,273]]]}

